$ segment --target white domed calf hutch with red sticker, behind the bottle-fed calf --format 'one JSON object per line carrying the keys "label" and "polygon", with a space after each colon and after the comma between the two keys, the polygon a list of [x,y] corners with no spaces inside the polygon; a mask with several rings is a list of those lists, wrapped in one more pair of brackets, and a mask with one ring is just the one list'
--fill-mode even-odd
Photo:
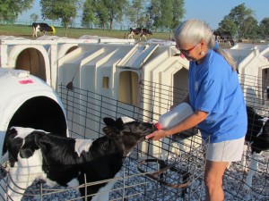
{"label": "white domed calf hutch with red sticker, behind the bottle-fed calf", "polygon": [[0,86],[1,155],[5,131],[13,126],[67,135],[64,106],[46,82],[29,71],[0,68]]}

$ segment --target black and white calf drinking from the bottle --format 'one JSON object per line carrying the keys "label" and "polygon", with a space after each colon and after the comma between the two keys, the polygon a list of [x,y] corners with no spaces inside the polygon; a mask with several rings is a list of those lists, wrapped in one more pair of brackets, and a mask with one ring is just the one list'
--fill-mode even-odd
{"label": "black and white calf drinking from the bottle", "polygon": [[[152,123],[130,118],[122,117],[117,121],[104,118],[103,121],[106,135],[95,140],[62,138],[43,130],[13,127],[6,133],[3,152],[9,154],[9,174],[13,182],[2,180],[2,188],[7,182],[8,196],[19,201],[24,189],[37,178],[45,180],[50,186],[59,184],[65,187],[77,187],[85,180],[88,183],[112,179],[133,147],[156,130]],[[113,184],[108,182],[89,186],[87,195],[105,191],[92,200],[108,200],[108,191]],[[0,191],[6,200],[6,193]],[[80,188],[80,193],[85,196],[85,188]]]}

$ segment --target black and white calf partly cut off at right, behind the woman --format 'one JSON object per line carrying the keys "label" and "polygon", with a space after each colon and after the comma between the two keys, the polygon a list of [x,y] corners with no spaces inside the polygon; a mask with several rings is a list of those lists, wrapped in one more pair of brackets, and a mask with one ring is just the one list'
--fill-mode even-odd
{"label": "black and white calf partly cut off at right, behind the woman", "polygon": [[[257,114],[252,107],[247,106],[247,135],[246,142],[251,149],[251,159],[244,188],[252,187],[252,179],[258,168],[260,155],[268,158],[269,151],[269,120]],[[245,155],[246,156],[246,155]],[[243,158],[246,164],[246,158]]]}

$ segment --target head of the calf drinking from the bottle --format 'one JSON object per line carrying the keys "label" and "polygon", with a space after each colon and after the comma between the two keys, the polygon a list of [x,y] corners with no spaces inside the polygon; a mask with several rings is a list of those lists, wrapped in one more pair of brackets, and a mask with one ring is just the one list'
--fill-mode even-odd
{"label": "head of the calf drinking from the bottle", "polygon": [[106,124],[103,128],[103,132],[108,138],[114,138],[122,143],[126,154],[138,143],[143,142],[145,136],[156,130],[151,122],[135,121],[128,117],[121,117],[116,121],[106,117],[103,121]]}

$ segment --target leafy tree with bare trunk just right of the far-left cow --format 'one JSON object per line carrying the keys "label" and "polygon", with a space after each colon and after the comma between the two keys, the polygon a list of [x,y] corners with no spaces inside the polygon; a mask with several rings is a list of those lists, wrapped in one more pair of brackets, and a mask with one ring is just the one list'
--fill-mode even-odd
{"label": "leafy tree with bare trunk just right of the far-left cow", "polygon": [[65,24],[65,37],[70,22],[76,17],[79,0],[40,0],[43,19],[62,21]]}

